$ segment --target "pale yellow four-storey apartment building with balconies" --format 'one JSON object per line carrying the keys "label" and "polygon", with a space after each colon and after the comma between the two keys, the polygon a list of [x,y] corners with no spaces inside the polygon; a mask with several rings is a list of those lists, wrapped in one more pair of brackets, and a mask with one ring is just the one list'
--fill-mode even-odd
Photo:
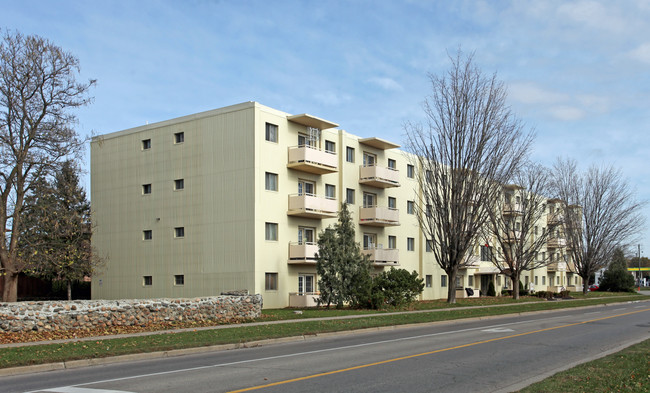
{"label": "pale yellow four-storey apartment building with balconies", "polygon": [[[374,269],[417,271],[422,299],[445,298],[447,285],[459,296],[511,285],[479,245],[475,263],[447,282],[413,214],[417,168],[407,153],[338,127],[246,102],[93,138],[93,245],[106,259],[93,299],[247,289],[266,308],[313,305],[317,237],[344,201]],[[546,220],[561,219],[556,204]],[[556,262],[527,272],[526,285],[579,285],[565,248],[558,231],[542,250]]]}

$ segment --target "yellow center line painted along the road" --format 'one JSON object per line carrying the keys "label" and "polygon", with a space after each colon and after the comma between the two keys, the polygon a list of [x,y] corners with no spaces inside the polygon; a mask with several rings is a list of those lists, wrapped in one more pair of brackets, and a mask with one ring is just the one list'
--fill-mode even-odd
{"label": "yellow center line painted along the road", "polygon": [[343,373],[343,372],[346,372],[346,371],[352,371],[352,370],[358,370],[358,369],[362,369],[362,368],[366,368],[366,367],[378,366],[378,365],[381,365],[381,364],[397,362],[399,360],[413,359],[413,358],[417,358],[417,357],[420,357],[420,356],[432,355],[434,353],[446,352],[446,351],[451,351],[451,350],[454,350],[454,349],[467,348],[467,347],[471,347],[471,346],[474,346],[474,345],[486,344],[486,343],[490,343],[490,342],[494,342],[494,341],[506,340],[506,339],[509,339],[509,338],[527,336],[529,334],[534,334],[534,333],[547,332],[549,330],[562,329],[562,328],[571,327],[571,326],[583,325],[583,324],[591,323],[591,322],[603,321],[605,319],[618,318],[618,317],[623,317],[623,316],[626,316],[626,315],[638,314],[638,313],[645,312],[645,311],[650,311],[650,308],[646,308],[644,310],[638,310],[638,311],[631,311],[631,312],[627,312],[627,313],[624,313],[624,314],[612,315],[612,316],[609,316],[609,317],[602,317],[602,318],[590,319],[590,320],[582,321],[582,322],[570,323],[570,324],[567,324],[567,325],[561,325],[561,326],[555,326],[555,327],[550,327],[550,328],[545,328],[545,329],[533,330],[533,331],[526,332],[526,333],[511,334],[509,336],[491,338],[489,340],[483,340],[483,341],[477,341],[477,342],[473,342],[473,343],[469,343],[469,344],[457,345],[455,347],[436,349],[435,351],[422,352],[422,353],[417,353],[417,354],[414,354],[414,355],[402,356],[402,357],[399,357],[399,358],[382,360],[382,361],[374,362],[374,363],[366,363],[366,364],[361,364],[359,366],[342,368],[342,369],[339,369],[339,370],[327,371],[327,372],[324,372],[324,373],[312,374],[312,375],[307,375],[307,376],[304,376],[304,377],[286,379],[284,381],[273,382],[273,383],[269,383],[269,384],[266,384],[266,385],[251,386],[249,388],[244,388],[244,389],[239,389],[239,390],[232,390],[229,393],[250,392],[252,390],[264,389],[264,388],[269,388],[269,387],[272,387],[272,386],[284,385],[284,384],[287,384],[287,383],[304,381],[304,380],[307,380],[307,379],[318,378],[318,377],[324,377],[326,375],[339,374],[339,373]]}

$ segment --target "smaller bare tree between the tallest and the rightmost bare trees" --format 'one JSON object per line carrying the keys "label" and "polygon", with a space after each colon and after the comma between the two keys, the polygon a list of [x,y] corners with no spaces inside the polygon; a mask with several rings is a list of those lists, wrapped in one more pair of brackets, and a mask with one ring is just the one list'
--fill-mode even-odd
{"label": "smaller bare tree between the tallest and the rightmost bare trees", "polygon": [[550,259],[540,258],[550,234],[560,225],[557,217],[546,218],[550,170],[539,164],[522,165],[513,177],[513,185],[504,187],[500,209],[489,210],[487,238],[496,252],[494,265],[512,282],[512,297],[519,299],[522,272],[548,266]]}

